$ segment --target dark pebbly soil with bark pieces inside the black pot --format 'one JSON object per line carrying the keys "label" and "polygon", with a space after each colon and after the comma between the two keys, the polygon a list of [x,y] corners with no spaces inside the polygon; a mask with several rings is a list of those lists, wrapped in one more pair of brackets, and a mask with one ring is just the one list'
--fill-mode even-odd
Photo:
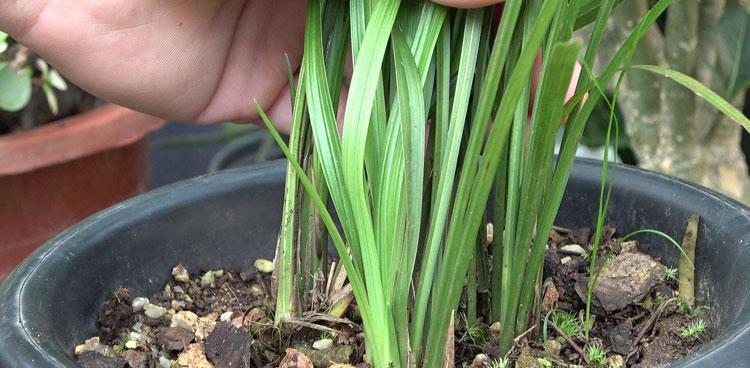
{"label": "dark pebbly soil with bark pieces inside the black pot", "polygon": [[[667,268],[638,252],[636,243],[622,243],[614,234],[607,228],[598,254],[594,322],[586,338],[582,326],[590,255],[585,254],[586,247],[575,245],[590,244],[591,232],[553,231],[539,313],[533,321],[537,328],[517,339],[510,356],[516,367],[656,367],[679,360],[708,341],[706,331],[685,333],[689,325],[702,322],[705,309],[680,302],[677,282],[668,277]],[[314,312],[280,330],[273,324],[270,274],[213,270],[188,276],[188,270],[177,266],[172,275],[172,281],[151,295],[145,306],[143,298],[127,289],[116,290],[102,306],[98,336],[76,347],[79,364],[367,367],[361,363],[364,340],[356,305],[341,318],[330,316],[323,307],[332,299],[341,300],[342,293],[346,296],[346,288],[339,286],[336,293],[326,294],[325,287],[319,287],[308,293],[304,301]],[[465,319],[455,321],[455,366],[480,368],[499,358],[498,327],[481,321],[467,325]],[[578,326],[576,332],[570,333],[571,325]],[[600,362],[584,357],[592,347],[602,350]]]}

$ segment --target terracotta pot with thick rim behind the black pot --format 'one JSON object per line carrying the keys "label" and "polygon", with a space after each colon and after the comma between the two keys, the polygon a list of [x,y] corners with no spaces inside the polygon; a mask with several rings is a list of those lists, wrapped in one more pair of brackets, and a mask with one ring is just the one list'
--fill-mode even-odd
{"label": "terracotta pot with thick rim behind the black pot", "polygon": [[158,118],[105,105],[0,136],[0,281],[70,225],[146,188]]}

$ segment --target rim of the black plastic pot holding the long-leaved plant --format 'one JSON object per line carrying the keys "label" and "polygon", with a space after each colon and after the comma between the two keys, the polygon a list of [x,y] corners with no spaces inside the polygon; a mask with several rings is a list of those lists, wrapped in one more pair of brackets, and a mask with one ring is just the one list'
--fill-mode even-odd
{"label": "rim of the black plastic pot holding the long-leaved plant", "polygon": [[[576,166],[581,168],[581,170],[579,170],[581,173],[588,173],[591,170],[597,171],[601,166],[601,161],[599,160],[576,159],[576,161]],[[23,343],[31,347],[32,349],[30,350],[33,351],[27,350],[23,352],[26,353],[24,356],[25,359],[33,357],[38,359],[44,358],[43,361],[54,362],[55,365],[61,367],[66,366],[65,363],[61,362],[54,355],[50,355],[35,341],[35,335],[33,331],[30,331],[25,325],[25,319],[21,311],[21,300],[23,295],[29,292],[27,290],[27,283],[34,276],[35,271],[43,266],[46,259],[52,255],[52,253],[59,251],[59,248],[67,244],[74,243],[75,238],[81,236],[81,233],[87,230],[107,226],[109,223],[108,218],[110,216],[142,212],[153,213],[155,210],[153,208],[154,203],[159,203],[159,206],[166,207],[179,205],[181,202],[184,202],[184,199],[176,196],[175,192],[180,190],[190,187],[197,188],[198,191],[196,196],[198,197],[216,192],[229,191],[241,186],[243,182],[246,182],[251,178],[260,178],[261,181],[263,181],[264,177],[267,177],[269,174],[282,172],[285,167],[286,160],[278,159],[250,167],[224,170],[183,180],[105,209],[64,231],[37,250],[32,256],[24,261],[24,263],[16,268],[3,284],[0,284],[0,337],[9,338],[9,341],[13,340],[13,343],[15,344],[23,341]],[[746,222],[750,223],[750,208],[736,200],[724,196],[723,194],[679,178],[647,171],[638,167],[622,164],[616,164],[616,167],[618,176],[638,176],[643,181],[649,183],[661,182],[666,184],[667,182],[672,182],[675,185],[693,190],[696,193],[707,196],[715,201],[721,201],[728,209],[736,211],[738,216],[745,218]],[[210,189],[212,184],[217,187]],[[748,233],[747,238],[750,239],[750,233]],[[13,303],[12,305],[9,305],[10,303],[8,302],[11,300]],[[742,312],[747,311],[748,308],[750,308],[750,302],[745,302],[742,307]],[[14,313],[15,318],[8,318],[7,314],[9,310]],[[740,313],[740,315],[742,314],[744,313]],[[697,352],[675,362],[672,366],[702,367],[709,361],[714,362],[716,364],[715,366],[736,366],[732,364],[737,363],[738,361],[746,361],[746,359],[742,358],[746,358],[745,354],[748,352],[744,346],[748,343],[750,343],[750,322],[733,322],[727,325],[714,340],[704,345]],[[727,354],[729,354],[729,356],[727,356]],[[8,357],[4,357],[3,351],[0,350],[0,364],[7,361],[3,359],[8,359]],[[11,361],[16,360],[14,359]]]}

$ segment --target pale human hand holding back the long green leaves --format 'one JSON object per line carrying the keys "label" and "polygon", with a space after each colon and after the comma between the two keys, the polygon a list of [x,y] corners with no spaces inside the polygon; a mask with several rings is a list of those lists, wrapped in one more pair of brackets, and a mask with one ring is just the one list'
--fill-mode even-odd
{"label": "pale human hand holding back the long green leaves", "polygon": [[257,100],[288,131],[284,55],[299,66],[305,7],[296,0],[6,0],[0,30],[102,99],[197,123],[256,120]]}

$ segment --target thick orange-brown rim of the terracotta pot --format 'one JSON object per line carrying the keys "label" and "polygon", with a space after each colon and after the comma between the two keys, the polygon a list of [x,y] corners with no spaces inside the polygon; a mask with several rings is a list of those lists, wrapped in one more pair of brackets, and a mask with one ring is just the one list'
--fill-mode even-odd
{"label": "thick orange-brown rim of the terracotta pot", "polygon": [[143,139],[164,120],[105,104],[40,127],[0,135],[0,176],[18,175]]}

